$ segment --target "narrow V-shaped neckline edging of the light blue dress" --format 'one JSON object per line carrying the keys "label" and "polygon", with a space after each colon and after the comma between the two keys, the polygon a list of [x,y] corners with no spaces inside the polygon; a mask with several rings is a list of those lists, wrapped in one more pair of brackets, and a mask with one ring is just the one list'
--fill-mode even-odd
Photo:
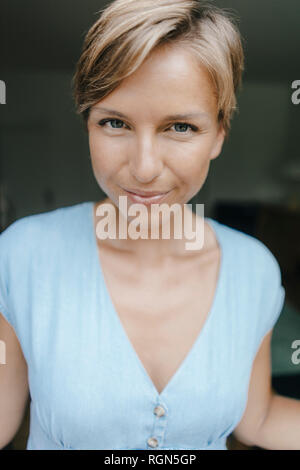
{"label": "narrow V-shaped neckline edging of the light blue dress", "polygon": [[214,296],[213,296],[213,300],[212,300],[212,303],[211,303],[210,310],[208,312],[208,315],[206,316],[205,322],[202,325],[200,332],[198,333],[198,335],[197,335],[194,343],[192,344],[191,348],[189,349],[188,353],[185,355],[185,357],[183,358],[183,360],[181,361],[181,363],[177,367],[174,374],[171,376],[171,378],[169,379],[167,384],[164,386],[163,390],[159,393],[157,388],[155,387],[154,383],[152,382],[152,379],[150,378],[150,376],[149,376],[144,364],[142,363],[139,355],[137,354],[136,350],[134,349],[131,340],[129,339],[129,336],[128,336],[128,334],[127,334],[127,332],[126,332],[126,330],[125,330],[125,328],[124,328],[124,326],[121,322],[121,319],[120,319],[120,317],[119,317],[119,315],[118,315],[118,313],[115,309],[115,306],[113,304],[110,292],[108,290],[106,280],[105,280],[105,277],[104,277],[104,274],[103,274],[101,260],[100,260],[100,257],[99,257],[99,251],[98,251],[99,246],[97,244],[97,239],[96,239],[96,235],[95,235],[94,204],[95,204],[94,201],[90,201],[90,203],[88,204],[88,216],[89,216],[89,222],[91,223],[91,227],[90,227],[90,224],[88,225],[88,227],[89,227],[89,229],[91,228],[92,258],[94,259],[94,262],[97,263],[97,266],[96,266],[97,277],[99,278],[99,280],[101,279],[101,281],[102,281],[104,295],[106,296],[106,299],[108,301],[110,311],[112,312],[112,315],[114,316],[114,318],[115,318],[115,320],[116,320],[116,322],[119,326],[119,330],[120,330],[121,334],[125,338],[125,342],[128,346],[129,351],[131,352],[131,354],[135,358],[136,364],[140,368],[142,374],[144,375],[144,378],[148,382],[148,384],[149,384],[150,388],[152,389],[155,397],[158,400],[162,400],[163,397],[165,397],[167,395],[167,393],[170,390],[170,388],[172,387],[172,385],[175,383],[175,380],[178,379],[178,377],[183,374],[184,369],[187,367],[187,363],[192,360],[192,356],[193,356],[193,354],[195,354],[195,350],[197,349],[198,343],[200,342],[201,339],[203,339],[203,336],[204,336],[205,332],[208,330],[208,327],[211,324],[212,319],[215,316],[215,312],[218,310],[220,290],[221,290],[222,281],[223,281],[223,277],[224,277],[224,265],[225,265],[225,263],[224,263],[224,247],[223,247],[223,243],[221,241],[220,233],[218,232],[218,228],[217,228],[218,227],[218,225],[217,225],[218,222],[216,220],[213,220],[213,219],[209,218],[209,217],[205,217],[205,220],[208,222],[211,229],[214,231],[214,234],[215,234],[215,237],[216,237],[216,240],[218,242],[219,249],[220,249],[220,263],[219,263],[219,270],[218,270],[218,279],[217,279],[217,284],[216,284],[216,287],[215,287],[215,292],[214,292]]}

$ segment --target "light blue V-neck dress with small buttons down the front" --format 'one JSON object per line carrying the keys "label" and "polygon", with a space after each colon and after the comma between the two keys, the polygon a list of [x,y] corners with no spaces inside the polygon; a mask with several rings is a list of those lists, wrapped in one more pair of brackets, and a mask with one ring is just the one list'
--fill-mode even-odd
{"label": "light blue V-neck dress with small buttons down the front", "polygon": [[27,449],[226,450],[282,310],[278,262],[259,240],[206,218],[221,248],[213,304],[158,393],[105,284],[93,204],[26,216],[0,235],[0,312],[28,364]]}

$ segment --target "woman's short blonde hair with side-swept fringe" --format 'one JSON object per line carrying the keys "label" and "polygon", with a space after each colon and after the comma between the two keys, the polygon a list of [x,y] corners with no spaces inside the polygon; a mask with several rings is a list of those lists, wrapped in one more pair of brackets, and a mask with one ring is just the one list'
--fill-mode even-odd
{"label": "woman's short blonde hair with side-swept fringe", "polygon": [[198,0],[115,0],[100,10],[72,79],[85,123],[89,109],[164,44],[189,48],[207,69],[227,135],[244,70],[242,39],[228,10]]}

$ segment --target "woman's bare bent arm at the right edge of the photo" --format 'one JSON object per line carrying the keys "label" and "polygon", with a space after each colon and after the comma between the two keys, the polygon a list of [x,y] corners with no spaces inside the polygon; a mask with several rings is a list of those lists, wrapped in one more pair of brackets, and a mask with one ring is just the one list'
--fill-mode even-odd
{"label": "woman's bare bent arm at the right edge of the photo", "polygon": [[300,400],[275,393],[271,385],[272,330],[253,363],[247,407],[233,434],[263,449],[300,450]]}

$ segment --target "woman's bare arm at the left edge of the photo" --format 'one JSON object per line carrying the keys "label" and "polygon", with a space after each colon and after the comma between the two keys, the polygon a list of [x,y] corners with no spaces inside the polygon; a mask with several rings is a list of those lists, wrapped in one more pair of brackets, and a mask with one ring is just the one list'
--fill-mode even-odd
{"label": "woman's bare arm at the left edge of the photo", "polygon": [[13,327],[0,313],[0,339],[5,364],[0,363],[0,449],[14,438],[29,398],[27,363]]}

